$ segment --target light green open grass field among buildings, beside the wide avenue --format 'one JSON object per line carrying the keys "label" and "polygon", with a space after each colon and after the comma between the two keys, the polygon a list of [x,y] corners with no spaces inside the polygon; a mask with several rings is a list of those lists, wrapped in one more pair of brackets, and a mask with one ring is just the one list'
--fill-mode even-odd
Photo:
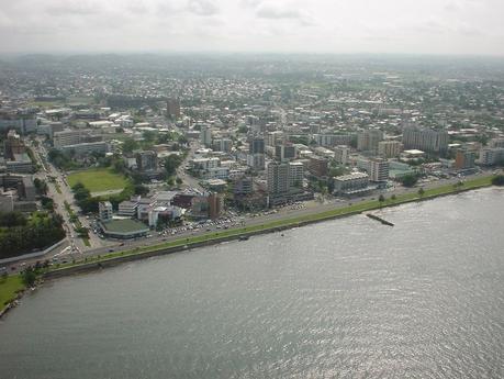
{"label": "light green open grass field among buildings, beside the wide avenue", "polygon": [[81,182],[91,192],[124,189],[128,185],[124,176],[108,168],[76,171],[68,175],[67,181],[70,187]]}

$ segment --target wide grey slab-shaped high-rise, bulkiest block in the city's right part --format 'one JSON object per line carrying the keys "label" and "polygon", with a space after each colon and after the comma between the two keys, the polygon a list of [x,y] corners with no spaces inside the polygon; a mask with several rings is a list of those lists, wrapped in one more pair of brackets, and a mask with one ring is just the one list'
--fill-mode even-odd
{"label": "wide grey slab-shaped high-rise, bulkiest block in the city's right part", "polygon": [[429,153],[445,153],[448,149],[449,135],[446,131],[407,126],[403,131],[405,149],[421,149]]}

